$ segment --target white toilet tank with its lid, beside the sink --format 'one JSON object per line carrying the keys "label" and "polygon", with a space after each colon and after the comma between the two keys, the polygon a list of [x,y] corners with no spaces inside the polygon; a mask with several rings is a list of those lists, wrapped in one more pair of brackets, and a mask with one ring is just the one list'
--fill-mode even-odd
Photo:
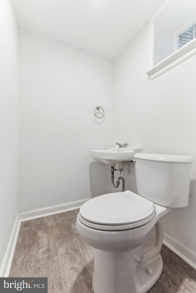
{"label": "white toilet tank with its lid, beside the sink", "polygon": [[162,206],[188,205],[193,157],[137,153],[134,158],[139,195]]}

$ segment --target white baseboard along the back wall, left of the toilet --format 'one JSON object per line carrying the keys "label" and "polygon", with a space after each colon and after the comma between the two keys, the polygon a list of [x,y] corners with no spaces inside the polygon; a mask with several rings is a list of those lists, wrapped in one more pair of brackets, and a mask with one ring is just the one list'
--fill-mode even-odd
{"label": "white baseboard along the back wall, left of the toilet", "polygon": [[83,200],[68,202],[66,204],[62,204],[58,206],[48,206],[43,209],[22,212],[22,213],[19,213],[19,219],[21,222],[24,222],[24,221],[29,221],[33,219],[55,215],[58,213],[63,213],[70,210],[76,210],[76,209],[79,209],[83,205],[83,203],[87,202],[89,199],[90,198],[86,198]]}

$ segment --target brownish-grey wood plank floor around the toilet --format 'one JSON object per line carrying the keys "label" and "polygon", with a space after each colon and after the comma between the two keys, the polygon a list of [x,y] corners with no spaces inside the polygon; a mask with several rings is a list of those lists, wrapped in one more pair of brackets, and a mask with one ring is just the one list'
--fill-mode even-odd
{"label": "brownish-grey wood plank floor around the toilet", "polygon": [[[93,293],[94,249],[76,231],[77,213],[22,222],[9,276],[48,277],[48,293]],[[196,271],[164,245],[161,256],[163,272],[148,293],[195,293]]]}

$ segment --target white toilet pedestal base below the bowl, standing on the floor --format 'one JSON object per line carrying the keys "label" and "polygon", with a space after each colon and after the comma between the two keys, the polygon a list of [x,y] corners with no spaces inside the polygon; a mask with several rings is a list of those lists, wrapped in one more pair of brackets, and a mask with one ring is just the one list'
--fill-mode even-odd
{"label": "white toilet pedestal base below the bowl, standing on the floor", "polygon": [[[106,252],[96,249],[92,287],[94,293],[145,293],[159,279],[163,261],[158,254],[145,265],[134,262],[134,250]],[[150,267],[153,275],[146,269]]]}

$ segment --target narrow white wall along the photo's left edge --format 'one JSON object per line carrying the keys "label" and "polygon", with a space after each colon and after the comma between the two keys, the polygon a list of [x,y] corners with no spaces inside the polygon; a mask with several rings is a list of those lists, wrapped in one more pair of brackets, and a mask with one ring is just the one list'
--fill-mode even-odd
{"label": "narrow white wall along the photo's left edge", "polygon": [[18,213],[18,31],[0,1],[0,267]]}

